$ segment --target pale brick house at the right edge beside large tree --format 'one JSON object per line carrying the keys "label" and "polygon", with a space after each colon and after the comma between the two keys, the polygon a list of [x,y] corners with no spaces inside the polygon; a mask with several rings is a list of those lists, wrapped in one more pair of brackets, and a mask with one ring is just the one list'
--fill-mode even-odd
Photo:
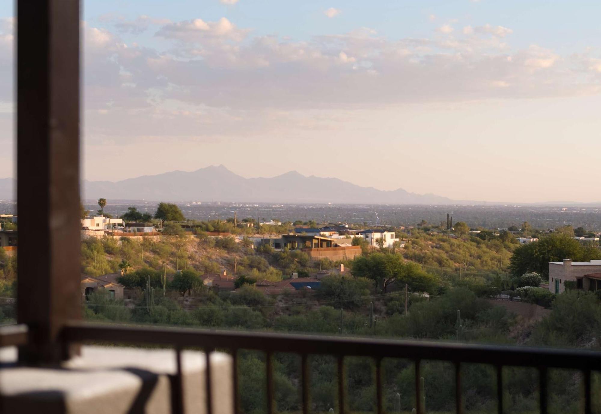
{"label": "pale brick house at the right edge beside large tree", "polygon": [[594,274],[601,273],[601,260],[590,262],[572,262],[564,259],[563,262],[549,262],[549,290],[553,293],[563,293],[566,290],[566,281],[575,281],[577,289],[597,290]]}

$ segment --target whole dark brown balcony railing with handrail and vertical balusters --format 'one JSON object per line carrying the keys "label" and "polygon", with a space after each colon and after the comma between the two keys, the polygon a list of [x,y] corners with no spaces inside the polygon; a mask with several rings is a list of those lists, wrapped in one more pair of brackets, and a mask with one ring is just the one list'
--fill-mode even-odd
{"label": "whole dark brown balcony railing with handrail and vertical balusters", "polygon": [[[22,325],[2,328],[0,346],[23,344],[27,340],[27,329]],[[548,412],[548,369],[564,368],[580,370],[584,374],[584,412],[591,413],[591,372],[601,371],[601,352],[579,349],[550,349],[518,346],[495,346],[461,343],[438,343],[426,341],[386,340],[375,338],[329,337],[313,335],[271,334],[265,332],[227,332],[189,328],[164,328],[153,326],[99,325],[95,323],[73,322],[67,324],[61,333],[64,344],[86,341],[109,341],[111,343],[154,344],[171,346],[177,358],[172,412],[183,412],[181,352],[185,348],[202,348],[207,361],[206,395],[207,413],[213,412],[211,400],[210,353],[216,349],[227,350],[233,356],[234,412],[240,413],[237,371],[239,350],[258,350],[266,353],[267,414],[275,413],[273,391],[273,353],[296,353],[301,356],[302,412],[309,412],[309,355],[331,355],[337,358],[338,365],[338,412],[347,410],[346,386],[344,383],[344,358],[363,356],[373,358],[376,367],[376,407],[377,414],[384,413],[382,401],[382,359],[409,359],[415,366],[415,401],[421,401],[419,386],[421,361],[447,361],[454,364],[456,413],[463,412],[462,364],[489,364],[496,370],[497,412],[504,413],[503,406],[503,367],[532,367],[538,370],[539,409],[541,414]],[[423,407],[416,404],[416,412],[423,413]]]}

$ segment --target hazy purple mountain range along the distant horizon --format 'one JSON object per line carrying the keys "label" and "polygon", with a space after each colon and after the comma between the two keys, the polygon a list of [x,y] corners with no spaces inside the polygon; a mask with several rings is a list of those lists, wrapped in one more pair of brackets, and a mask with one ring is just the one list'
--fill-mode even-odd
{"label": "hazy purple mountain range along the distant horizon", "polygon": [[[16,180],[0,179],[0,200],[14,199]],[[244,178],[225,166],[192,172],[171,171],[121,181],[83,181],[82,199],[219,201],[266,203],[474,205],[482,202],[451,200],[435,194],[416,194],[361,187],[338,178],[304,176],[290,171],[272,178]],[[490,203],[506,204],[506,203]],[[528,203],[522,203],[525,205]],[[601,205],[601,203],[548,202],[535,205]]]}

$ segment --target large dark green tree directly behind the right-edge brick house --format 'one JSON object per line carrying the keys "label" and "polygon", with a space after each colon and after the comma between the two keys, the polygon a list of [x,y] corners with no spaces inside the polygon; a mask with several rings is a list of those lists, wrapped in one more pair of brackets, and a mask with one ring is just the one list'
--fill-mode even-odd
{"label": "large dark green tree directly behind the right-edge brick house", "polygon": [[516,277],[537,272],[546,279],[549,277],[549,262],[561,262],[563,259],[588,262],[601,259],[601,251],[583,246],[566,233],[551,233],[537,242],[517,247],[511,256],[509,270]]}

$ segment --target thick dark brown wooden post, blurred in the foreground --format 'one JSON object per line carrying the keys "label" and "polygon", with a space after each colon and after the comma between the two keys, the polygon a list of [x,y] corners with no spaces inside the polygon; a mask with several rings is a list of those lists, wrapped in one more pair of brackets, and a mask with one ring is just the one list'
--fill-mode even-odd
{"label": "thick dark brown wooden post, blurred in the foreground", "polygon": [[69,358],[60,340],[81,318],[79,0],[17,0],[17,322],[19,361]]}

